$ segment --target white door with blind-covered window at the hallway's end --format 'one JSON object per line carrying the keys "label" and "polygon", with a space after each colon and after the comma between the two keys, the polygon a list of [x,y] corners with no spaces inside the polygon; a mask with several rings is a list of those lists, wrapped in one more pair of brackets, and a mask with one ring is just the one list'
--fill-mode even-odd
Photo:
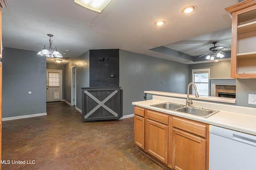
{"label": "white door with blind-covered window at the hallway's end", "polygon": [[62,100],[62,70],[46,69],[46,102]]}

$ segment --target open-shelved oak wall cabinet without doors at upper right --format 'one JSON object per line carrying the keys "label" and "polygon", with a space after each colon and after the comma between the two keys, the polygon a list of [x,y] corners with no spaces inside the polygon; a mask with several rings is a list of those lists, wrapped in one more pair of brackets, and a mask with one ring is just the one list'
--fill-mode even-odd
{"label": "open-shelved oak wall cabinet without doors at upper right", "polygon": [[256,0],[225,8],[232,18],[231,77],[256,78]]}

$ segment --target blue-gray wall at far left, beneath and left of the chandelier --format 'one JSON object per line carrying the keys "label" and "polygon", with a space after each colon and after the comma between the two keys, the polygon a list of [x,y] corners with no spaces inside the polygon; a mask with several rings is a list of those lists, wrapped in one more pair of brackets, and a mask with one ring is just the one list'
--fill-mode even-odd
{"label": "blue-gray wall at far left, beneath and left of the chandelier", "polygon": [[3,118],[46,113],[46,57],[36,54],[11,48],[2,51]]}

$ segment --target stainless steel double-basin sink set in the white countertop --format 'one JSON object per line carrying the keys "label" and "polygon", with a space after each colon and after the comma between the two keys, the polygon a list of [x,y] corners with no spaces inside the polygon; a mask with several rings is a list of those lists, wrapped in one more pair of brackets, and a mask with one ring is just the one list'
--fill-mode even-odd
{"label": "stainless steel double-basin sink set in the white countertop", "polygon": [[184,106],[181,104],[175,104],[170,102],[154,104],[150,106],[167,109],[167,110],[178,111],[181,113],[187,113],[187,114],[196,115],[204,118],[209,117],[218,112],[218,110],[212,110],[212,109],[206,109],[206,108],[194,107],[194,106]]}

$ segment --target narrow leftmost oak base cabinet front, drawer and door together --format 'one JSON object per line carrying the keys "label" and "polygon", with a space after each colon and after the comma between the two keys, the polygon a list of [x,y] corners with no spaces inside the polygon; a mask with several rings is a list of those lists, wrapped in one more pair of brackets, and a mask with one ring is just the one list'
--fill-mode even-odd
{"label": "narrow leftmost oak base cabinet front, drawer and door together", "polygon": [[134,144],[144,148],[144,139],[145,139],[145,109],[142,107],[134,107]]}

